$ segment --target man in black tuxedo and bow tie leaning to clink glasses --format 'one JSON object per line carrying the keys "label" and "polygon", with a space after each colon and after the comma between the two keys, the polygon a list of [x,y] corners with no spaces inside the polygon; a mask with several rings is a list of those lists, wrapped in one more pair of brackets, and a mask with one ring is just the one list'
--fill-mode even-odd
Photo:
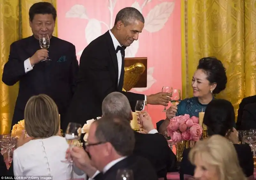
{"label": "man in black tuxedo and bow tie leaning to clink glasses", "polygon": [[103,99],[114,91],[122,92],[129,99],[133,111],[137,100],[167,106],[171,97],[169,93],[160,92],[145,96],[122,91],[124,48],[138,40],[143,27],[142,14],[135,8],[126,7],[117,13],[114,27],[84,49],[80,58],[77,89],[65,126],[71,120],[84,124],[89,119],[101,116]]}

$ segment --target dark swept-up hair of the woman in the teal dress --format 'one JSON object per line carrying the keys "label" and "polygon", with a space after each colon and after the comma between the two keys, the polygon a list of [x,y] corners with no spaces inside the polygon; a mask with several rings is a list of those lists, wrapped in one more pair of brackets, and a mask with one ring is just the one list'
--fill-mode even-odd
{"label": "dark swept-up hair of the woman in the teal dress", "polygon": [[219,59],[215,57],[202,58],[199,60],[197,69],[202,69],[205,72],[210,83],[216,82],[217,85],[212,92],[213,94],[219,94],[226,88],[226,68]]}

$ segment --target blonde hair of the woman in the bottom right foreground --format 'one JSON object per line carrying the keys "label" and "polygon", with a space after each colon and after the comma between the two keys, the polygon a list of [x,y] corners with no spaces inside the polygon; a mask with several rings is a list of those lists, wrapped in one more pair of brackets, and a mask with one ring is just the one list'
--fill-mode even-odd
{"label": "blonde hair of the woman in the bottom right foreground", "polygon": [[196,143],[189,152],[188,158],[195,164],[195,156],[217,168],[220,180],[247,180],[239,165],[234,145],[227,138],[213,135]]}

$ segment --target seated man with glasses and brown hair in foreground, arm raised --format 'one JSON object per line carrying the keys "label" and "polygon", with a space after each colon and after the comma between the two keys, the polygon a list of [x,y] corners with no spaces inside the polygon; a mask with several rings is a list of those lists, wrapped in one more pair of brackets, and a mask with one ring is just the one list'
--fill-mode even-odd
{"label": "seated man with glasses and brown hair in foreground, arm raised", "polygon": [[95,180],[119,179],[116,177],[118,169],[132,170],[134,180],[157,180],[150,162],[132,155],[134,144],[134,133],[128,121],[104,116],[90,126],[86,151],[91,159],[82,148],[74,147],[68,153],[76,167]]}

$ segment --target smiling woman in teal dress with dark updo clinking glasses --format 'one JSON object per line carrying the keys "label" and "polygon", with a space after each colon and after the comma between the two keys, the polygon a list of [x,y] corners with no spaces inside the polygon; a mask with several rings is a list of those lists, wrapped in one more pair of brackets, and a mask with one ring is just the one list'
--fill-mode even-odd
{"label": "smiling woman in teal dress with dark updo clinking glasses", "polygon": [[175,115],[189,114],[190,117],[198,117],[214,95],[226,88],[226,84],[226,68],[220,60],[215,57],[200,59],[191,82],[193,97],[181,100],[178,106],[171,106],[166,112],[166,119],[156,123],[158,131],[163,134]]}

